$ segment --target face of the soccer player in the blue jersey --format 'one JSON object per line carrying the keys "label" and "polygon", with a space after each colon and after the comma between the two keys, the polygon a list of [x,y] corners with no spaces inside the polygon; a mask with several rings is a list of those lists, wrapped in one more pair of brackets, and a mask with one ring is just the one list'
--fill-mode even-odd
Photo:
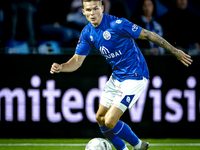
{"label": "face of the soccer player in the blue jersey", "polygon": [[99,1],[83,2],[83,6],[83,14],[94,27],[97,27],[103,18],[104,7]]}

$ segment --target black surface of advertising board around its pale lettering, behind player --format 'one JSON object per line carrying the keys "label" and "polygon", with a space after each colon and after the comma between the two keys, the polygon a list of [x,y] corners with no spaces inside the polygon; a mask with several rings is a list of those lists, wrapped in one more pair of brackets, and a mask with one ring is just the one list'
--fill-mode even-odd
{"label": "black surface of advertising board around its pale lettering, behind player", "polygon": [[[71,88],[78,89],[84,100],[88,91],[92,88],[98,88],[98,79],[101,76],[109,77],[110,67],[100,55],[89,55],[83,66],[73,73],[50,74],[50,67],[53,62],[66,62],[71,55],[0,55],[1,78],[0,78],[0,128],[2,131],[0,138],[92,138],[102,136],[97,123],[88,120],[85,107],[82,110],[72,110],[73,113],[81,112],[84,119],[78,123],[70,123],[63,116],[62,120],[52,123],[46,116],[46,99],[42,96],[42,91],[46,89],[48,80],[55,81],[55,89],[61,90],[61,97],[64,92]],[[145,56],[149,70],[150,82],[144,106],[144,112],[141,122],[132,122],[129,111],[126,111],[121,120],[125,121],[133,131],[141,138],[200,138],[200,86],[198,71],[200,59],[198,56],[192,57],[193,65],[183,66],[172,56]],[[40,121],[35,122],[31,119],[31,98],[27,96],[28,89],[34,89],[31,86],[30,79],[37,75],[41,79],[40,90]],[[160,122],[153,120],[153,100],[149,97],[149,90],[155,89],[152,86],[152,79],[159,76],[162,79],[162,119]],[[172,89],[178,89],[184,93],[188,90],[186,81],[193,76],[197,84],[194,89],[195,94],[195,112],[196,119],[189,122],[187,119],[188,103],[184,98],[174,98],[183,108],[183,117],[175,123],[165,119],[165,114],[170,112],[175,114],[174,110],[168,108],[165,104],[166,95]],[[26,120],[17,119],[17,98],[14,98],[14,118],[13,121],[5,120],[5,97],[1,95],[2,89],[9,88],[13,91],[16,88],[22,88],[26,93]],[[98,107],[98,98],[95,99],[95,110]],[[61,98],[56,98],[56,112],[61,112]],[[73,101],[73,99],[72,99]],[[84,103],[85,105],[85,103]],[[62,112],[61,112],[62,114]],[[136,114],[137,115],[137,114]]]}

